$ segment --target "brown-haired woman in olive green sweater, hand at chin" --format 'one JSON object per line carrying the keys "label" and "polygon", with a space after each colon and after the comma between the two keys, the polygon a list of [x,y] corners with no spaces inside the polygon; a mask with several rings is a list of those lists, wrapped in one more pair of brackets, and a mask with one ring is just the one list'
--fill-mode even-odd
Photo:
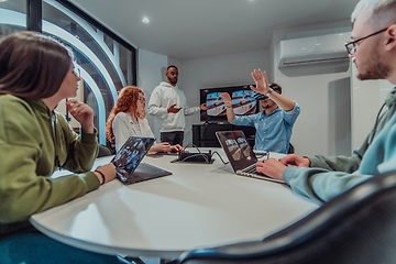
{"label": "brown-haired woman in olive green sweater, hand at chin", "polygon": [[[0,43],[0,255],[6,263],[118,263],[56,242],[29,217],[59,206],[116,177],[112,164],[89,172],[98,152],[94,111],[68,100],[81,134],[54,111],[76,97],[72,52],[40,33],[20,32]],[[74,175],[50,178],[57,168]]]}

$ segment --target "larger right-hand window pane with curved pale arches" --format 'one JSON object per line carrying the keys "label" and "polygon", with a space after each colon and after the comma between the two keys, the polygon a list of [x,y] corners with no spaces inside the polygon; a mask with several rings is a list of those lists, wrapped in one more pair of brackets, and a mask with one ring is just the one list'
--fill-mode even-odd
{"label": "larger right-hand window pane with curved pale arches", "polygon": [[[43,33],[58,37],[74,50],[75,68],[84,80],[77,99],[94,109],[99,142],[106,144],[106,119],[118,91],[132,85],[133,51],[55,0],[43,1]],[[64,111],[70,119],[66,108]],[[70,125],[74,127],[73,120]]]}

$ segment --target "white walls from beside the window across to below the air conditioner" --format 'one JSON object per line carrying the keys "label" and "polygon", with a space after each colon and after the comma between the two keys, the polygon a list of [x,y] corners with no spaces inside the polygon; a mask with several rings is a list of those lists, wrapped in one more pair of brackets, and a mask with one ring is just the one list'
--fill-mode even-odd
{"label": "white walls from beside the window across to below the air conditioner", "polygon": [[[139,87],[148,99],[153,89],[165,80],[167,65],[179,68],[179,88],[189,107],[199,105],[199,89],[253,84],[251,72],[265,69],[270,81],[278,82],[284,95],[296,100],[301,114],[295,124],[292,142],[301,155],[351,154],[351,69],[348,63],[310,65],[278,69],[278,42],[286,38],[345,32],[350,21],[307,25],[274,32],[268,50],[179,61],[151,52],[139,52]],[[147,114],[157,139],[160,124]],[[191,124],[201,123],[199,113],[186,117],[184,145],[193,143]]]}

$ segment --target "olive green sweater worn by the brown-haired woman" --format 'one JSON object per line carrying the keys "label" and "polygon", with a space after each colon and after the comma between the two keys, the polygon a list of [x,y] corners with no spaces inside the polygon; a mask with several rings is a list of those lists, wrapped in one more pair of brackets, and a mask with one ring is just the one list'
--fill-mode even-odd
{"label": "olive green sweater worn by the brown-haired woman", "polygon": [[[29,226],[33,213],[97,189],[100,183],[89,172],[97,152],[96,133],[77,135],[43,101],[0,96],[0,238]],[[55,156],[79,174],[50,178]]]}

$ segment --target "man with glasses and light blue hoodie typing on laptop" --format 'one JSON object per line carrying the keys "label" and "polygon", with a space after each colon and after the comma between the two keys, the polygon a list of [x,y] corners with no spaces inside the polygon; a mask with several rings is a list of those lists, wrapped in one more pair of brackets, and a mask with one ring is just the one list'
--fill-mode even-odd
{"label": "man with glasses and light blue hoodie typing on laptop", "polygon": [[[361,0],[351,18],[353,41],[345,46],[358,78],[387,79],[396,85],[396,0]],[[396,88],[378,111],[374,129],[351,157],[288,155],[257,163],[257,172],[284,179],[296,193],[319,204],[328,201],[376,174],[396,169],[395,111]]]}

